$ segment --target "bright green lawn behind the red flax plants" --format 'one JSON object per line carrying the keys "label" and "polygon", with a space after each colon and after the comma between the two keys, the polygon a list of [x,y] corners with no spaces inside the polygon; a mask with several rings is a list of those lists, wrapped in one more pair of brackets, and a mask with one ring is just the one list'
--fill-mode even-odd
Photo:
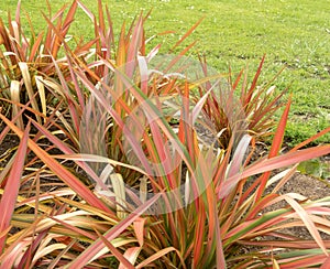
{"label": "bright green lawn behind the red flax plants", "polygon": [[[32,18],[34,25],[38,21],[44,23],[40,11],[47,12],[45,2],[22,1],[22,9]],[[97,12],[97,1],[84,2]],[[53,10],[62,4],[63,1],[52,1]],[[197,40],[195,54],[206,54],[209,65],[219,72],[227,72],[229,64],[233,72],[239,72],[246,64],[256,69],[264,53],[267,55],[264,79],[273,77],[283,65],[288,66],[275,84],[278,90],[289,86],[293,93],[286,131],[289,144],[302,141],[329,126],[330,34],[326,30],[330,29],[329,1],[191,0],[180,3],[170,0],[117,0],[108,1],[108,6],[117,31],[123,20],[130,22],[141,10],[146,12],[153,8],[145,25],[147,36],[165,30],[175,31],[157,35],[151,42],[163,43],[164,52],[168,49],[166,44],[174,44],[180,34],[204,17],[202,23],[186,42]],[[15,1],[1,1],[1,18],[6,19],[7,10],[13,12],[15,7]],[[88,39],[92,35],[92,24],[87,20],[80,11],[73,28],[76,36]],[[38,26],[42,30],[45,25]],[[328,134],[318,141],[329,140]]]}

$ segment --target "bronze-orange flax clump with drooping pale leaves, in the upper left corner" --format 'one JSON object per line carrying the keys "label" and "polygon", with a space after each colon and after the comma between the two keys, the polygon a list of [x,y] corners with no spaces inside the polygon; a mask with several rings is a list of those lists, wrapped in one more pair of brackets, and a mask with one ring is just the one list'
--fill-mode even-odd
{"label": "bronze-orange flax clump with drooping pale leaves, in the upper left corner", "polygon": [[[42,13],[41,18],[52,23],[53,28],[46,28],[38,33],[35,32],[28,15],[30,36],[26,36],[24,32],[26,29],[22,26],[20,1],[14,18],[8,13],[8,25],[0,18],[0,98],[3,109],[12,107],[13,116],[20,109],[19,104],[26,105],[24,114],[33,116],[41,123],[43,116],[51,112],[52,106],[59,105],[63,100],[69,101],[65,106],[77,106],[77,101],[84,103],[81,90],[75,93],[76,101],[72,98],[72,93],[61,90],[56,86],[59,80],[56,67],[61,69],[65,79],[72,80],[64,56],[64,39],[70,41],[73,52],[81,61],[95,44],[95,41],[81,43],[68,37],[78,2],[73,1],[67,13],[65,7],[52,15],[51,7],[47,4],[48,14]],[[23,120],[20,119],[18,123],[22,126]]]}

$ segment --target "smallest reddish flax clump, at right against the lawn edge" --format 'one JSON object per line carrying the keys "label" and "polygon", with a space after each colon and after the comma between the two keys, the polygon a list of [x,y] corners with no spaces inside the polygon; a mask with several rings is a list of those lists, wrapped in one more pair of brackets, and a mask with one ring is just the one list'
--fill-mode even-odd
{"label": "smallest reddish flax clump, at right against the lawn edge", "polygon": [[[274,131],[273,116],[283,107],[280,98],[287,89],[276,93],[276,87],[272,85],[283,69],[270,82],[258,84],[264,61],[265,55],[251,82],[248,66],[237,77],[229,68],[227,82],[212,90],[202,107],[204,126],[205,128],[212,126],[216,134],[221,134],[219,136],[219,144],[222,148],[228,147],[233,128],[249,130],[249,133],[257,141],[270,137]],[[210,76],[206,57],[200,57],[200,63],[204,76]],[[215,71],[211,69],[211,72]],[[196,101],[205,96],[210,87],[212,87],[211,83],[207,83],[205,87],[199,87],[194,95]],[[238,103],[239,106],[237,106]]]}

